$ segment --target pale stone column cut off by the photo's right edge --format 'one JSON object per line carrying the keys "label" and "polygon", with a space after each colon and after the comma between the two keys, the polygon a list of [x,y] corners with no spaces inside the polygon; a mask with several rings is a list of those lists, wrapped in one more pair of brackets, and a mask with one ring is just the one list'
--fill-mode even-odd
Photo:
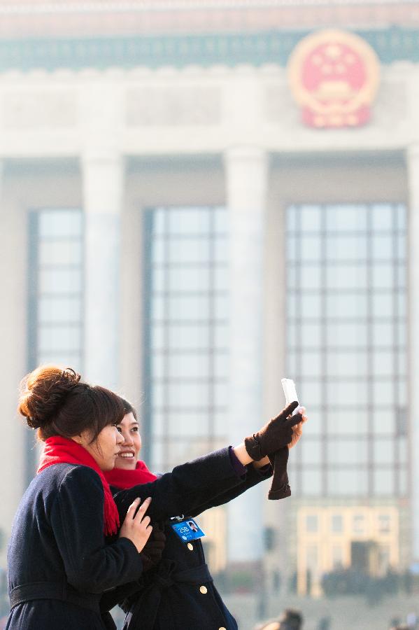
{"label": "pale stone column cut off by the photo's right edge", "polygon": [[413,559],[419,561],[419,142],[407,151],[409,176],[409,419],[411,427],[411,506]]}

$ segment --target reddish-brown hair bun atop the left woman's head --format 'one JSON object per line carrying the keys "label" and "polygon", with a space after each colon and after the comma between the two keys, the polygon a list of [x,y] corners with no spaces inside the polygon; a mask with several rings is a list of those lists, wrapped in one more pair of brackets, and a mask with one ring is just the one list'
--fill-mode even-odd
{"label": "reddish-brown hair bun atop the left woman's head", "polygon": [[80,381],[80,374],[66,367],[41,365],[20,384],[17,410],[31,428],[42,428],[57,414],[67,393]]}

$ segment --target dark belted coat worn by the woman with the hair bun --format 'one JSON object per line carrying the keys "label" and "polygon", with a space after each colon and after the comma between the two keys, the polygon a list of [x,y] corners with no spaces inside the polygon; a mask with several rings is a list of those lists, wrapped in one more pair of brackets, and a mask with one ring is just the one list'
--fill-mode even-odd
{"label": "dark belted coat worn by the woman with the hair bun", "polygon": [[131,540],[104,538],[104,490],[97,472],[83,465],[49,466],[29,485],[13,522],[8,546],[13,608],[6,629],[115,628],[109,613],[100,614],[101,595],[138,580],[142,570]]}

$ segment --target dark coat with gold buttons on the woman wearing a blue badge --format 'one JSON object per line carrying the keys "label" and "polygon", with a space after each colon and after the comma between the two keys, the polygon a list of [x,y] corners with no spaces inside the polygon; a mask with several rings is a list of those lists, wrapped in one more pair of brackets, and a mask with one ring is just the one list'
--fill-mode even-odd
{"label": "dark coat with gold buttons on the woman wearing a blue badge", "polygon": [[[194,517],[222,505],[271,477],[270,466],[234,470],[229,449],[221,449],[177,466],[157,481],[116,491],[121,519],[130,503],[152,497],[148,514],[162,523],[166,547],[158,566],[144,574],[142,589],[125,601],[129,630],[236,630],[237,624],[213,584],[200,540],[190,545],[173,532],[171,517]],[[126,587],[125,593],[131,591]],[[124,587],[120,589],[124,592]],[[127,624],[126,621],[126,624]]]}

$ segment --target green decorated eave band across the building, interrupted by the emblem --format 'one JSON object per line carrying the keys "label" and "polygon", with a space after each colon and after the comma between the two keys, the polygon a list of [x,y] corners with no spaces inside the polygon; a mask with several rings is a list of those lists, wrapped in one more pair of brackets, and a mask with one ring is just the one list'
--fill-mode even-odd
{"label": "green decorated eave band across the building, interrupted by the emblem", "polygon": [[[111,66],[133,68],[190,64],[274,63],[285,66],[297,42],[312,31],[268,31],[250,34],[43,38],[0,41],[0,71],[55,70]],[[354,30],[376,51],[381,63],[419,62],[419,29]]]}

